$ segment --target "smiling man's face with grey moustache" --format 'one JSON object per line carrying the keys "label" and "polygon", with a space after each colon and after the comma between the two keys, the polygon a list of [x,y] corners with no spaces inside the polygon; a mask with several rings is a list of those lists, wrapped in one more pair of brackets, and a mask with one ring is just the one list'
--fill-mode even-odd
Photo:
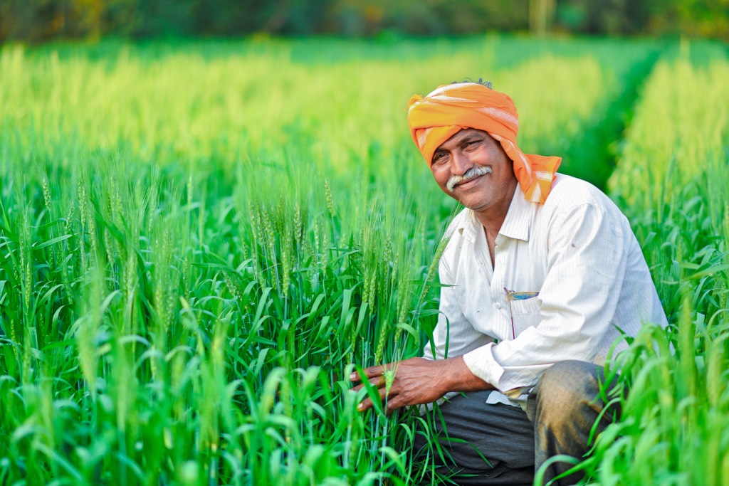
{"label": "smiling man's face with grey moustache", "polygon": [[440,189],[474,211],[511,203],[513,162],[488,133],[464,128],[439,146],[430,170]]}

